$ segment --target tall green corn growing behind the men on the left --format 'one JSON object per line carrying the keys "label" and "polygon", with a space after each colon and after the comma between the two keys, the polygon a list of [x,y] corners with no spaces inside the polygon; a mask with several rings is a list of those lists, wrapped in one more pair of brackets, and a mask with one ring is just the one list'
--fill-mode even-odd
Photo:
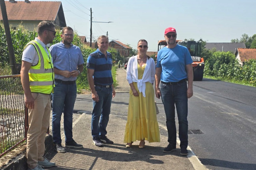
{"label": "tall green corn growing behind the men on the left", "polygon": [[[61,30],[56,30],[56,31],[57,33],[56,33],[56,37],[54,38],[53,44],[59,43],[62,40],[60,37]],[[23,48],[26,46],[26,44],[29,41],[34,40],[38,34],[36,31],[28,31],[24,29],[22,26],[17,27],[16,30],[11,29],[10,32],[12,37],[15,61],[17,64],[21,64]],[[87,89],[87,90],[89,89],[89,85],[87,81],[86,62],[89,54],[91,52],[94,52],[96,49],[91,49],[88,46],[84,46],[80,40],[80,37],[77,35],[77,33],[74,32],[74,34],[75,36],[72,43],[80,47],[83,54],[84,62],[85,62],[84,71],[77,78],[77,89],[79,92],[82,89]],[[114,48],[109,48],[108,51],[112,54],[112,60],[115,61],[117,51]],[[6,36],[5,36],[3,25],[0,25],[0,75],[10,75],[10,74],[11,74],[11,67],[10,67],[10,59],[9,59]],[[117,82],[115,79],[114,79],[114,86],[117,86]]]}

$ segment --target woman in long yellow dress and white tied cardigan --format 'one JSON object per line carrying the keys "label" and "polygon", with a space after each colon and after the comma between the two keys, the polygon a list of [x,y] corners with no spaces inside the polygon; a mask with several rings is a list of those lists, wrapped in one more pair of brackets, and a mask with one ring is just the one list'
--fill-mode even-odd
{"label": "woman in long yellow dress and white tied cardigan", "polygon": [[138,55],[129,58],[127,81],[131,87],[124,142],[130,148],[140,140],[139,148],[148,142],[160,142],[154,99],[155,62],[146,55],[147,41],[138,42]]}

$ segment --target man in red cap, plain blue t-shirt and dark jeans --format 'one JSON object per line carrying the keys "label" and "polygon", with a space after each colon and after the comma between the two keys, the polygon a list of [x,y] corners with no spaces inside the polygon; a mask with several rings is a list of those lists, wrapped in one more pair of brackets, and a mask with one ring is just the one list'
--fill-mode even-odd
{"label": "man in red cap, plain blue t-shirt and dark jeans", "polygon": [[157,54],[155,93],[158,99],[161,96],[166,114],[169,145],[163,152],[169,153],[176,150],[176,105],[179,120],[181,155],[187,155],[187,102],[188,98],[193,96],[193,61],[188,49],[176,44],[176,35],[174,28],[170,27],[165,30],[167,46],[159,50]]}

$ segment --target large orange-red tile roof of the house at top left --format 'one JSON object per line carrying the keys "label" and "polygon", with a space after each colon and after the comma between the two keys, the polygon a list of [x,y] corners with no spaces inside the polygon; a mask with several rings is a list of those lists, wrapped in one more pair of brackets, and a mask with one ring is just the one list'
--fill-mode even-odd
{"label": "large orange-red tile roof of the house at top left", "polygon": [[[47,20],[54,21],[61,2],[46,1],[4,1],[8,20]],[[2,20],[0,9],[0,20]]]}

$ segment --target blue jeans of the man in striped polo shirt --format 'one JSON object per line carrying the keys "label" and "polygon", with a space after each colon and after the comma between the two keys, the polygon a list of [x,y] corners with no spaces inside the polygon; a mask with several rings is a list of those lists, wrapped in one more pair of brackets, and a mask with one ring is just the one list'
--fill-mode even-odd
{"label": "blue jeans of the man in striped polo shirt", "polygon": [[105,88],[95,86],[99,101],[93,101],[93,113],[91,115],[91,135],[93,138],[104,137],[107,134],[106,126],[109,122],[112,87]]}

